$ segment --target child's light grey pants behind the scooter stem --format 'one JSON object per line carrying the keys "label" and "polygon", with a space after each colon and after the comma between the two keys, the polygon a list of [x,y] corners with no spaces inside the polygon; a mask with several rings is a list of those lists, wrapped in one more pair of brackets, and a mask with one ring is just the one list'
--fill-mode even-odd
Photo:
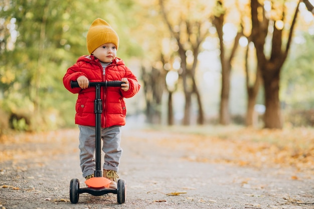
{"label": "child's light grey pants behind the scooter stem", "polygon": [[[80,166],[83,177],[93,174],[95,170],[95,127],[79,125],[80,129]],[[103,169],[118,172],[122,149],[121,126],[101,128],[101,139],[103,141],[102,151],[104,155]]]}

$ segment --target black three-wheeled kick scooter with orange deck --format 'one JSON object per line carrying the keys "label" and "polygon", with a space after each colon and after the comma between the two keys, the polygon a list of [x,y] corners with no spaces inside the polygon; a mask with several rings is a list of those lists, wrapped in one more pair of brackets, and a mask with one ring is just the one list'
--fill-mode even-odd
{"label": "black three-wheeled kick scooter with orange deck", "polygon": [[[121,87],[121,81],[106,81],[106,82],[89,82],[88,87],[96,88],[96,99],[94,101],[95,119],[95,172],[94,177],[85,181],[87,187],[80,188],[79,179],[73,178],[70,182],[70,201],[77,203],[81,193],[89,193],[94,196],[101,196],[107,193],[117,194],[117,202],[122,204],[125,202],[125,180],[119,179],[117,188],[109,188],[110,180],[102,176],[101,169],[101,113],[102,101],[100,97],[100,87]],[[71,88],[78,88],[77,81],[71,81]]]}

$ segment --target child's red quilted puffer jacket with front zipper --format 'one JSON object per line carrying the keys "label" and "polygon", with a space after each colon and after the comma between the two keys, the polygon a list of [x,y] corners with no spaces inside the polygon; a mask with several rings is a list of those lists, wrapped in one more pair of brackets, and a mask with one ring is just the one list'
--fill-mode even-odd
{"label": "child's red quilted puffer jacket with front zipper", "polygon": [[135,75],[127,68],[124,62],[116,58],[106,67],[105,75],[98,59],[94,56],[82,56],[70,67],[63,77],[63,84],[73,94],[78,93],[76,101],[75,123],[79,125],[95,126],[94,100],[95,87],[86,89],[71,88],[70,82],[78,77],[86,76],[90,82],[121,81],[127,78],[130,88],[124,91],[119,87],[101,88],[103,112],[101,114],[101,127],[125,125],[126,107],[124,98],[134,96],[140,88]]}

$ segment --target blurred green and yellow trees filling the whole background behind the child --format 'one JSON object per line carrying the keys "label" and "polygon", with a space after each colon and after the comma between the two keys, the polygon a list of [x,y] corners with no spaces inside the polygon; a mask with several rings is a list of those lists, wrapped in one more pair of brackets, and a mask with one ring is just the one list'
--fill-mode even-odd
{"label": "blurred green and yellow trees filling the whole background behind the child", "polygon": [[2,130],[74,125],[77,95],[62,78],[88,53],[98,17],[119,34],[118,57],[142,85],[127,100],[131,120],[313,124],[311,1],[0,2]]}

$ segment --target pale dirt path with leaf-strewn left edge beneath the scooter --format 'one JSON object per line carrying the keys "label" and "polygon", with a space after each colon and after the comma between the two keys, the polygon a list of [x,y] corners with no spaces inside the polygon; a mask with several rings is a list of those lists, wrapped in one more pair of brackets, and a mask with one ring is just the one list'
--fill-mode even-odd
{"label": "pale dirt path with leaf-strewn left edge beneath the scooter", "polygon": [[237,150],[246,142],[159,129],[125,128],[122,135],[125,203],[85,193],[70,202],[70,180],[84,184],[78,130],[71,129],[0,142],[0,208],[314,208],[313,168]]}

